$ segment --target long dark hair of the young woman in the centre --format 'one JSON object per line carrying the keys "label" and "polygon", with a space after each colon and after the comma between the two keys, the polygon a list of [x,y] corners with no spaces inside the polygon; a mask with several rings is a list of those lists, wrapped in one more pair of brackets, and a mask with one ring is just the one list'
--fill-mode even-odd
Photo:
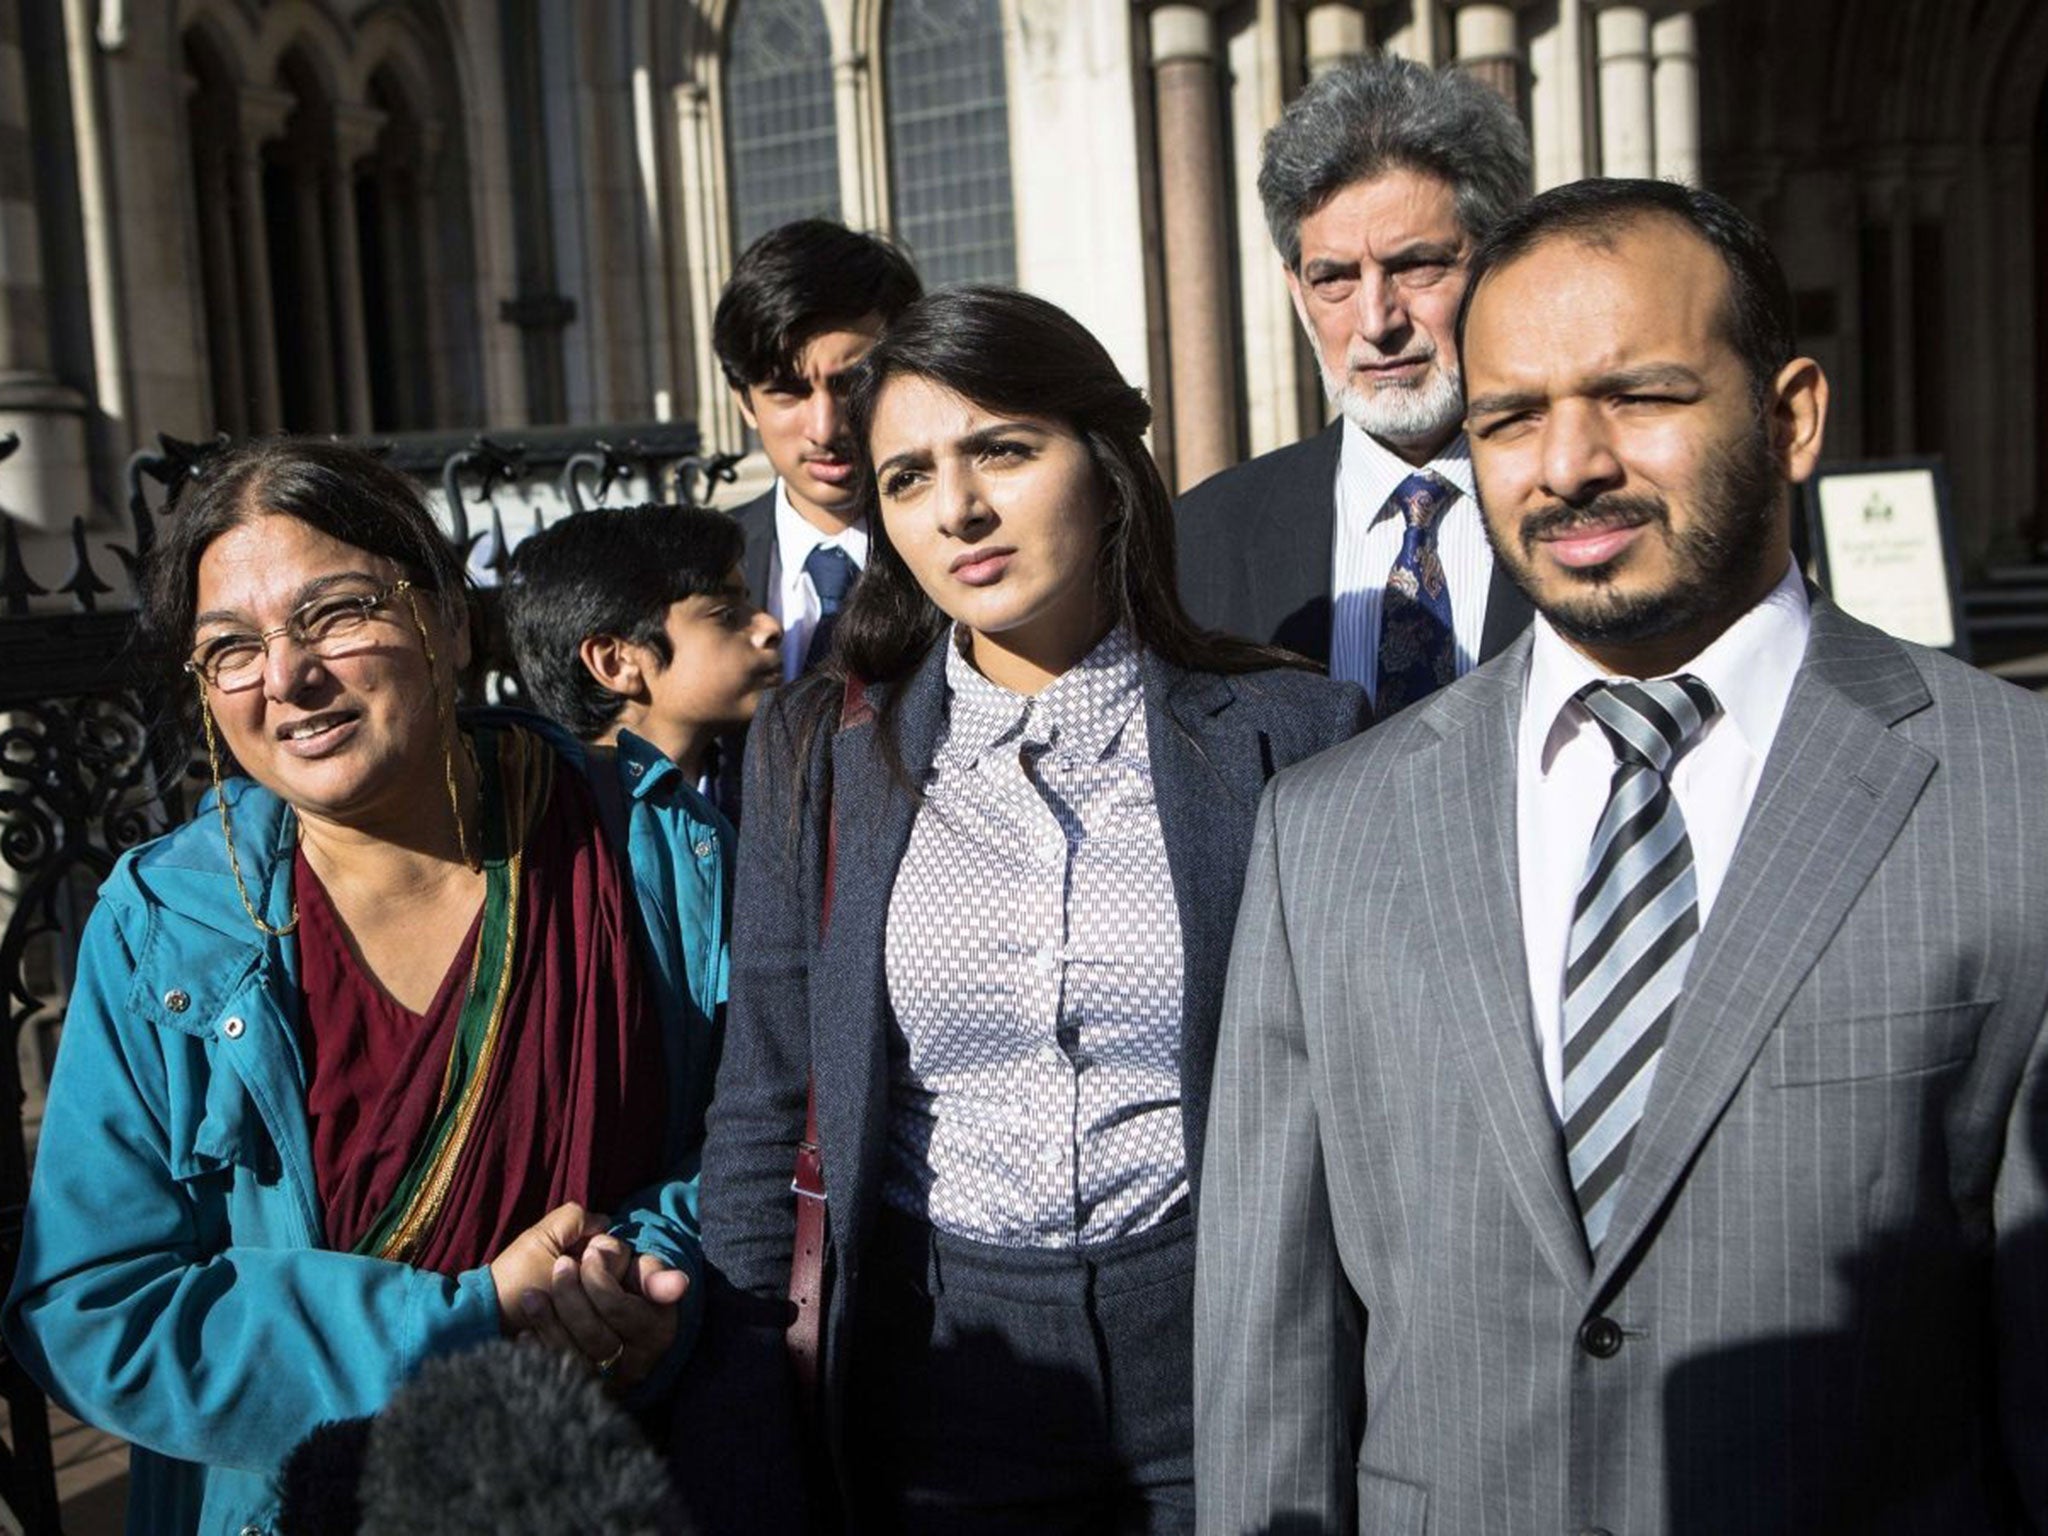
{"label": "long dark hair of the young woman in the centre", "polygon": [[[918,586],[883,524],[868,432],[893,379],[930,379],[1001,416],[1036,416],[1069,428],[1087,446],[1106,518],[1098,580],[1118,623],[1153,655],[1188,672],[1257,672],[1311,664],[1292,651],[1200,629],[1180,604],[1174,500],[1145,449],[1151,406],[1124,383],[1102,342],[1059,305],[1001,287],[942,289],[909,305],[854,369],[846,395],[854,444],[856,512],[868,528],[868,563],[834,631],[825,676],[842,686],[897,682],[930,653],[948,618]],[[883,750],[901,766],[895,705],[879,707]],[[840,688],[807,690],[811,715],[836,711]],[[815,719],[799,727],[809,741]]]}

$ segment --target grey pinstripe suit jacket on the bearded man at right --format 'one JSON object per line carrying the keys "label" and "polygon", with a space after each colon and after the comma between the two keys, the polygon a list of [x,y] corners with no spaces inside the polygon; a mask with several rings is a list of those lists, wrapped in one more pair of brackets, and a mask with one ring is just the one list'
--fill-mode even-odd
{"label": "grey pinstripe suit jacket on the bearded man at right", "polygon": [[1526,666],[1264,799],[1202,1532],[2048,1530],[2048,707],[1815,602],[1593,1264],[1522,958]]}

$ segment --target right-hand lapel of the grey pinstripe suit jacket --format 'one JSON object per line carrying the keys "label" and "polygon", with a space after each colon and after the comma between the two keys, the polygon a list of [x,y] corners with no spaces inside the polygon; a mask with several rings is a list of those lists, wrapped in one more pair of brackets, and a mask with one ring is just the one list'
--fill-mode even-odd
{"label": "right-hand lapel of the grey pinstripe suit jacket", "polygon": [[1806,659],[1671,1018],[1597,1284],[1655,1223],[1913,811],[1935,758],[1890,725],[1927,702],[1896,641],[1815,602]]}

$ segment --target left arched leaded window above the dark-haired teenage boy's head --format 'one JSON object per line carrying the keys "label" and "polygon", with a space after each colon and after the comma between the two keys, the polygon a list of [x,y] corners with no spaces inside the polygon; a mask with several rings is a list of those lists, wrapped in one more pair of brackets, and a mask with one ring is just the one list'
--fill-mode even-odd
{"label": "left arched leaded window above the dark-haired teenage boy's head", "polygon": [[741,0],[725,82],[733,248],[791,219],[840,217],[831,39],[819,0]]}

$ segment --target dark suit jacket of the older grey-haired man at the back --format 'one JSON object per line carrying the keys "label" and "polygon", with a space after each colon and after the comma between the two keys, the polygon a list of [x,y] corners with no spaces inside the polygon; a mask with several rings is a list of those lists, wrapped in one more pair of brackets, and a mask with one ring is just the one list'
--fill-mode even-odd
{"label": "dark suit jacket of the older grey-haired man at the back", "polygon": [[[1198,625],[1329,666],[1341,446],[1343,422],[1331,422],[1307,442],[1210,475],[1180,498],[1180,600]],[[1479,659],[1499,655],[1528,623],[1528,598],[1495,567]]]}

